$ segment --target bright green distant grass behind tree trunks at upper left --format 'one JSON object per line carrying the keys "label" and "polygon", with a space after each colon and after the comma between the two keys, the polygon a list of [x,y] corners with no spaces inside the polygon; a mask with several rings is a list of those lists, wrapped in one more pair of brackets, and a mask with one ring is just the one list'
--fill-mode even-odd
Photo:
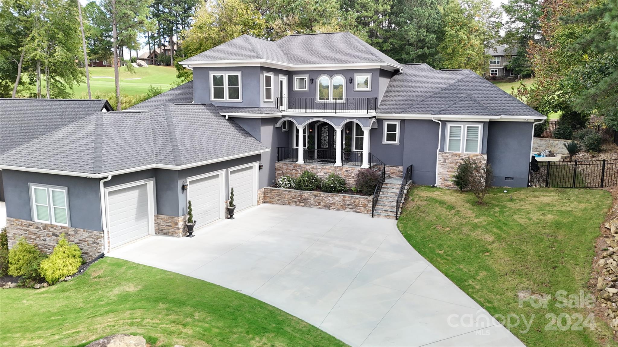
{"label": "bright green distant grass behind tree trunks at upper left", "polygon": [[[100,93],[116,93],[114,85],[113,67],[89,67],[90,90]],[[105,78],[97,78],[105,77]],[[111,78],[107,78],[111,77]],[[129,73],[124,67],[120,68],[120,88],[122,94],[139,95],[146,94],[150,85],[160,86],[164,91],[169,90],[170,83],[176,79],[176,69],[169,66],[150,65],[148,67],[135,68],[135,73]],[[137,80],[127,78],[139,78]],[[74,86],[75,98],[87,98],[86,83]]]}

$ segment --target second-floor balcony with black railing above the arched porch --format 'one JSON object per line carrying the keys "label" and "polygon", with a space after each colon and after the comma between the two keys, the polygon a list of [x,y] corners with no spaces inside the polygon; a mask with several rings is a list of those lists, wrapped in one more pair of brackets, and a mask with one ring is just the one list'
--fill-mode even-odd
{"label": "second-floor balcony with black railing above the arched porch", "polygon": [[352,113],[376,112],[378,98],[277,98],[277,109],[302,113]]}

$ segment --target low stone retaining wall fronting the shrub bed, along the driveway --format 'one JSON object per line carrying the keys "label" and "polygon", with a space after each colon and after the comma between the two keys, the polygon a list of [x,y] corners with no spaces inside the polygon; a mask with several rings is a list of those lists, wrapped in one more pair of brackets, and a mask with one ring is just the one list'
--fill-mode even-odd
{"label": "low stone retaining wall fronting the shrub bed, along the driveway", "polygon": [[371,214],[371,196],[265,187],[264,203]]}

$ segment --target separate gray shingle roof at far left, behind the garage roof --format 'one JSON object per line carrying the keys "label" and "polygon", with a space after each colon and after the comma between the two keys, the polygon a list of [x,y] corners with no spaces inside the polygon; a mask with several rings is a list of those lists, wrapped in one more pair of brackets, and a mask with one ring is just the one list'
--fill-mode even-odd
{"label": "separate gray shingle roof at far left, behind the garage roof", "polygon": [[0,99],[0,153],[103,109],[107,100]]}

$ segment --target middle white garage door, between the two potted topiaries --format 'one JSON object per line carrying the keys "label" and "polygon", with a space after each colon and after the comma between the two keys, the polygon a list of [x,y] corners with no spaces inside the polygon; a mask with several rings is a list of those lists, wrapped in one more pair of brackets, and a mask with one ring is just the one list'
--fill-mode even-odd
{"label": "middle white garage door, between the two potted topiaries", "polygon": [[197,220],[198,227],[203,227],[221,217],[224,191],[221,176],[215,174],[188,181],[188,196],[193,207],[193,219]]}

